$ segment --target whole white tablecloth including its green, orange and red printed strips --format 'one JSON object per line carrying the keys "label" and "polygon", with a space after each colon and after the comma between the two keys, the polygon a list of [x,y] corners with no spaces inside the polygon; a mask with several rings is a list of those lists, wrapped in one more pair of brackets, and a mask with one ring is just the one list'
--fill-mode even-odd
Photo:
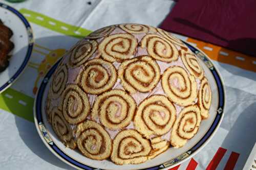
{"label": "whole white tablecloth including its green, orange and red printed strips", "polygon": [[[175,5],[169,0],[27,0],[6,3],[30,21],[35,45],[24,74],[0,94],[0,167],[1,169],[74,169],[55,157],[42,143],[33,123],[35,90],[47,69],[42,64],[57,58],[90,30],[132,22],[157,27]],[[1,17],[1,16],[0,16]],[[38,19],[39,18],[39,19]],[[43,18],[42,20],[40,18]],[[56,23],[52,27],[49,23]],[[68,31],[67,31],[68,28]],[[66,31],[65,31],[66,30]],[[69,30],[76,30],[74,33]],[[256,58],[230,52],[236,61],[218,60],[220,47],[188,37],[179,38],[198,46],[220,70],[226,87],[226,110],[216,135],[192,159],[174,169],[242,169],[256,141],[256,72],[242,69],[241,62]],[[223,51],[227,51],[223,49]],[[228,56],[226,56],[228,57]],[[240,57],[240,58],[239,58]],[[243,58],[243,57],[242,57]],[[56,59],[54,59],[55,61]],[[34,90],[34,91],[33,91]],[[13,98],[8,98],[13,96]],[[23,101],[23,102],[20,102]],[[15,104],[17,107],[8,107]],[[25,102],[25,104],[24,104]],[[214,163],[212,163],[214,162]]]}

